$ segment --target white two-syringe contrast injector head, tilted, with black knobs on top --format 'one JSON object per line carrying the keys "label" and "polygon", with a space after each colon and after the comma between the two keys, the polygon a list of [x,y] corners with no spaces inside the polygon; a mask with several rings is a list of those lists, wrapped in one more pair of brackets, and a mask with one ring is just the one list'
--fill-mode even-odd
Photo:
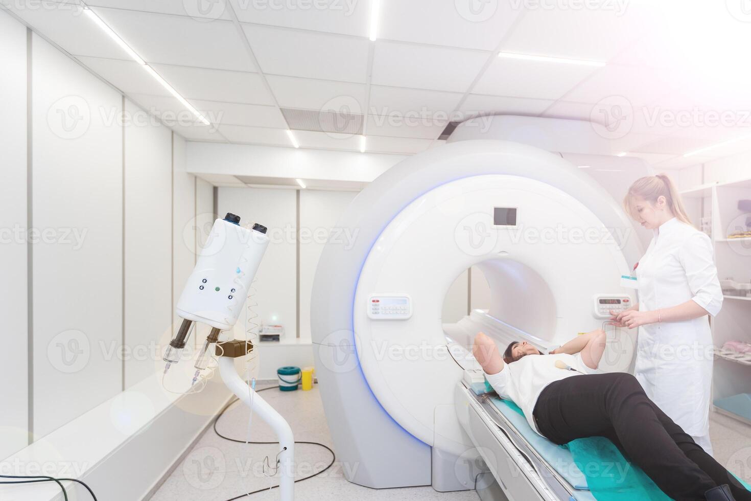
{"label": "white two-syringe contrast injector head, tilted, with black knobs on top", "polygon": [[211,326],[195,362],[196,376],[206,369],[211,359],[210,346],[219,340],[222,330],[232,328],[243,310],[248,289],[269,245],[266,231],[258,224],[243,228],[240,216],[232,213],[214,222],[177,302],[176,312],[183,320],[164,352],[165,373],[179,361],[193,322]]}

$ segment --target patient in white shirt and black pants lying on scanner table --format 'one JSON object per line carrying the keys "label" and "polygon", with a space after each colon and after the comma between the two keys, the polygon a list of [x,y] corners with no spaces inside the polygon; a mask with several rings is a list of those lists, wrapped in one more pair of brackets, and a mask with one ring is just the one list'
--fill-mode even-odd
{"label": "patient in white shirt and black pants lying on scanner table", "polygon": [[602,330],[549,355],[514,342],[501,358],[484,333],[472,347],[496,393],[520,406],[529,426],[550,441],[605,436],[679,501],[751,501],[751,492],[668,418],[634,376],[599,373],[604,350]]}

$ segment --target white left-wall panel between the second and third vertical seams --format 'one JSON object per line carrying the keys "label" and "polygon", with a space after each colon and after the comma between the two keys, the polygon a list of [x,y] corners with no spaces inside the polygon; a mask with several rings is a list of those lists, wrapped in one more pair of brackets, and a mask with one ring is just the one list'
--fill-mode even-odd
{"label": "white left-wall panel between the second and third vertical seams", "polygon": [[151,376],[172,331],[172,132],[125,101],[125,388]]}

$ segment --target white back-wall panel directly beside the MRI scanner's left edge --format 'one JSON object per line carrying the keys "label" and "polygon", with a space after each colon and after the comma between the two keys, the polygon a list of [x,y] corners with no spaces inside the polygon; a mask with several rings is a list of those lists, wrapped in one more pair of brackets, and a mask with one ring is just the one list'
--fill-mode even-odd
{"label": "white back-wall panel directly beside the MRI scanner's left edge", "polygon": [[354,244],[356,234],[345,234],[336,228],[354,192],[300,191],[300,341],[309,343],[310,297],[318,258],[329,239],[340,239],[344,245]]}

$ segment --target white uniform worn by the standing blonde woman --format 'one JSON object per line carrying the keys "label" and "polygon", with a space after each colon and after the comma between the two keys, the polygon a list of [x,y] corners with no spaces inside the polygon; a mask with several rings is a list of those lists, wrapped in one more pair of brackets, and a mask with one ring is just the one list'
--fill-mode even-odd
{"label": "white uniform worn by the standing blonde woman", "polygon": [[[636,268],[639,310],[694,300],[710,315],[722,307],[712,243],[678,219],[662,224]],[[709,434],[712,333],[707,315],[642,325],[635,376],[647,396],[692,436]]]}

